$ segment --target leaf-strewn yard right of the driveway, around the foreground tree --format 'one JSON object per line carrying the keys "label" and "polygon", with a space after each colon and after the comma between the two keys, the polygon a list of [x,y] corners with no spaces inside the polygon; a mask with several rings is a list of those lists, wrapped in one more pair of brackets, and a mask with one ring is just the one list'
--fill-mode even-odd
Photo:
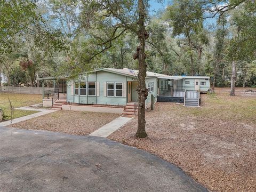
{"label": "leaf-strewn yard right of the driveway, around the foreground tree", "polygon": [[201,94],[201,108],[157,103],[146,112],[147,138],[134,138],[137,118],[109,138],[178,165],[211,191],[256,191],[256,95],[245,90]]}

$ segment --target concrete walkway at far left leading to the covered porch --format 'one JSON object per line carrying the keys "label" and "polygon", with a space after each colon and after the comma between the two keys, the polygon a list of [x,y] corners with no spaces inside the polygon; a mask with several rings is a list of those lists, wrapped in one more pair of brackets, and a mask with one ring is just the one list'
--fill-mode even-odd
{"label": "concrete walkway at far left leading to the covered porch", "polygon": [[[33,105],[33,106],[36,107],[37,105]],[[46,115],[46,114],[49,114],[49,113],[53,113],[53,112],[56,111],[56,110],[52,110],[52,109],[38,109],[38,108],[34,108],[34,107],[28,106],[28,107],[15,108],[15,109],[20,109],[20,110],[34,110],[34,111],[39,111],[39,112],[35,113],[35,114],[31,114],[31,115],[26,115],[26,116],[23,116],[23,117],[18,117],[18,118],[15,118],[15,119],[11,119],[11,120],[8,120],[8,121],[4,121],[4,122],[0,123],[0,125],[7,126],[7,125],[14,124],[14,123],[19,123],[19,122],[22,122],[22,121],[26,121],[26,120],[31,119],[31,118],[35,118],[35,117],[39,117],[39,116]]]}

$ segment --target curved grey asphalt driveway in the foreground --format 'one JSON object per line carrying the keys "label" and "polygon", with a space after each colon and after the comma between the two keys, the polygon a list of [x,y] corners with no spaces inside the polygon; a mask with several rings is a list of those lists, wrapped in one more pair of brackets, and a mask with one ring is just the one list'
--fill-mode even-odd
{"label": "curved grey asphalt driveway in the foreground", "polygon": [[0,126],[0,191],[205,189],[161,158],[105,138]]}

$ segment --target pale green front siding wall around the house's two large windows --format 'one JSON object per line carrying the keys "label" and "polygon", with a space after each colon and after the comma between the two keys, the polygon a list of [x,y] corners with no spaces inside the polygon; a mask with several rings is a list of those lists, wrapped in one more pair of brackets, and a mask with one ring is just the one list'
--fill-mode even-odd
{"label": "pale green front siding wall around the house's two large windows", "polygon": [[[75,95],[75,87],[74,87],[75,81],[69,80],[67,82],[67,102],[81,103],[81,104],[125,106],[127,101],[127,97],[126,97],[127,79],[128,77],[126,76],[109,73],[106,71],[98,71],[97,73],[89,74],[87,76],[87,82],[95,82],[96,86],[97,84],[99,85],[99,87],[96,87],[96,92],[97,90],[99,91],[99,93],[96,93],[96,95],[99,95],[99,96]],[[129,80],[132,80],[132,78],[129,77]],[[86,81],[85,75],[81,77],[81,81]],[[106,94],[107,82],[123,83],[123,93],[125,93],[125,97],[107,97],[107,94]]]}

